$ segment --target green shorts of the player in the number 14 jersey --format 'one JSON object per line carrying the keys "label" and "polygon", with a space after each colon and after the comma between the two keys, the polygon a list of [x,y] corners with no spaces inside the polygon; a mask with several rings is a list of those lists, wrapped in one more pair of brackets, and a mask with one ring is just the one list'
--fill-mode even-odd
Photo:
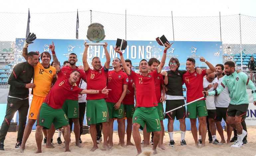
{"label": "green shorts of the player in the number 14 jersey", "polygon": [[187,105],[187,117],[197,118],[208,116],[205,100],[196,101]]}

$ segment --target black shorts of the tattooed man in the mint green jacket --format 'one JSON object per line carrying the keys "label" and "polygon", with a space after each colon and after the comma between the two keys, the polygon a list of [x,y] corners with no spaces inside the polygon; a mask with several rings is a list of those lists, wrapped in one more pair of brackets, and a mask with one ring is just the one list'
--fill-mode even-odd
{"label": "black shorts of the tattooed man in the mint green jacket", "polygon": [[229,104],[227,107],[227,117],[243,117],[246,118],[246,112],[249,104],[232,105]]}

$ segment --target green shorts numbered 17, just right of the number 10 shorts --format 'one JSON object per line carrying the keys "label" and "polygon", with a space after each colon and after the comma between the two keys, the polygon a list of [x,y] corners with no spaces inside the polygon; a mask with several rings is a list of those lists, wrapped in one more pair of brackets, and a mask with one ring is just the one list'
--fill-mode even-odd
{"label": "green shorts numbered 17, just right of the number 10 shorts", "polygon": [[115,110],[115,104],[116,103],[107,102],[109,118],[124,118],[124,105],[120,104],[119,109]]}

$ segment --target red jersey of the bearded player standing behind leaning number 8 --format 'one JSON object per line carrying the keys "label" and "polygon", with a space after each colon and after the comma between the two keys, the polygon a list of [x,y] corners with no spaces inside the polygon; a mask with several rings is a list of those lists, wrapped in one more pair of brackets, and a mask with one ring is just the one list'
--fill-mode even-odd
{"label": "red jersey of the bearded player standing behind leaning number 8", "polygon": [[[86,82],[86,76],[85,76],[85,73],[84,73],[83,70],[78,69],[77,66],[75,66],[75,67],[76,67],[75,69],[72,69],[69,66],[65,66],[65,67],[62,67],[62,71],[64,72],[64,74],[66,75],[67,78],[70,77],[70,74],[72,73],[72,71],[74,71],[74,70],[79,71],[80,72],[80,77],[79,77],[79,80],[76,82],[76,85],[78,86],[81,79],[83,79]],[[69,100],[78,100],[78,94],[72,93],[67,97],[67,99],[69,99]]]}

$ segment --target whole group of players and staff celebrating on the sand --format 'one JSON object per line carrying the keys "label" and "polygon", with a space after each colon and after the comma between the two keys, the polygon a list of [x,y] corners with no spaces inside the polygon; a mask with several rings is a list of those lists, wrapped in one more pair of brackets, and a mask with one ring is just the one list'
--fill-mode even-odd
{"label": "whole group of players and staff celebrating on the sand", "polygon": [[[217,64],[215,67],[205,58],[209,69],[195,67],[195,60],[188,58],[186,70],[179,70],[180,62],[172,57],[168,65],[170,70],[162,71],[166,61],[166,52],[173,43],[164,43],[161,61],[151,58],[142,59],[139,63],[139,73],[132,70],[132,62],[124,59],[120,47],[114,50],[120,55],[112,60],[105,42],[106,62],[101,65],[100,58],[93,57],[91,65],[87,62],[88,45],[84,43],[83,66],[76,66],[77,55],[71,53],[66,66],[61,68],[58,52],[55,52],[54,42],[49,46],[52,54],[45,51],[28,52],[28,45],[36,39],[35,34],[29,34],[23,47],[23,57],[26,62],[17,64],[8,80],[10,90],[7,100],[6,115],[0,131],[0,150],[4,150],[4,140],[10,122],[16,111],[19,112],[19,129],[15,148],[24,152],[26,141],[36,122],[37,151],[42,152],[42,141],[46,148],[54,148],[52,138],[56,129],[63,131],[65,152],[70,152],[70,131],[74,123],[75,145],[82,147],[80,138],[86,107],[86,121],[90,126],[93,146],[90,151],[98,148],[102,140],[98,136],[98,125],[102,125],[103,148],[110,150],[113,144],[113,122],[118,123],[118,145],[126,147],[134,144],[138,155],[143,147],[152,144],[153,154],[157,146],[165,149],[163,144],[164,124],[168,119],[168,134],[170,147],[175,146],[173,137],[174,121],[180,122],[181,146],[187,146],[185,140],[185,118],[191,122],[191,132],[196,147],[205,146],[208,129],[209,143],[221,145],[234,142],[232,147],[241,147],[247,143],[247,129],[244,119],[249,105],[246,86],[250,87],[253,104],[256,105],[256,87],[248,76],[235,69],[232,61]],[[42,63],[39,62],[40,59]],[[53,64],[50,65],[51,58]],[[92,69],[90,68],[92,66]],[[31,82],[33,80],[33,82]],[[183,84],[187,87],[187,110],[185,107]],[[33,100],[29,110],[29,89],[32,89]],[[202,98],[204,97],[204,98]],[[199,100],[198,100],[199,99]],[[136,103],[135,103],[136,101]],[[163,102],[166,101],[164,116]],[[181,107],[179,109],[176,109]],[[174,110],[176,109],[176,110]],[[29,113],[28,123],[26,124]],[[227,126],[227,139],[223,135],[222,118]],[[127,120],[127,126],[125,125]],[[198,133],[196,122],[199,122]],[[70,127],[71,126],[71,127]],[[125,144],[125,126],[127,139]],[[216,138],[216,128],[220,141]],[[139,129],[143,130],[143,141]],[[232,129],[234,136],[231,138]],[[150,134],[152,132],[152,140]],[[101,133],[101,132],[100,132]],[[61,144],[60,135],[58,144]],[[100,138],[100,140],[98,139]],[[177,140],[176,140],[177,141]]]}

